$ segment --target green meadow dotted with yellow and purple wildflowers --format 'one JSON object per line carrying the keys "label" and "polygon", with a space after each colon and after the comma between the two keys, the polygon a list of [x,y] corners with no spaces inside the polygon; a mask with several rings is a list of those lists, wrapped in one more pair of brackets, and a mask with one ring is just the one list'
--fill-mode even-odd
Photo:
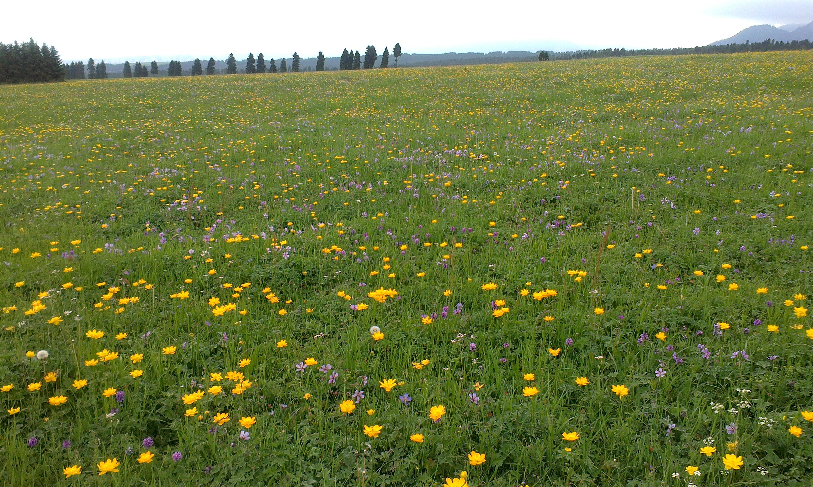
{"label": "green meadow dotted with yellow and purple wildflowers", "polygon": [[0,86],[2,485],[811,485],[811,68]]}

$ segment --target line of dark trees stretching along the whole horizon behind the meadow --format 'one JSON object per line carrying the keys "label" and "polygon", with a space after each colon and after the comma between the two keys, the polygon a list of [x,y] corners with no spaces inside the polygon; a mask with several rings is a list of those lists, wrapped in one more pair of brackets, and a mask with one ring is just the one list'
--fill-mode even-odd
{"label": "line of dark trees stretching along the whole horizon behind the meadow", "polygon": [[[723,46],[695,46],[686,48],[672,48],[672,49],[631,49],[627,50],[623,47],[618,49],[607,48],[604,50],[576,50],[566,52],[553,52],[541,50],[537,56],[538,61],[549,60],[565,60],[565,59],[597,59],[597,58],[611,58],[611,57],[626,57],[626,56],[641,56],[641,55],[684,55],[684,54],[733,54],[743,52],[767,52],[767,51],[780,51],[780,50],[811,50],[813,49],[813,42],[810,40],[804,41],[776,41],[774,39],[766,39],[762,42],[749,42],[746,41],[742,44],[732,43]],[[395,67],[398,67],[398,58],[401,56],[401,45],[396,43],[390,53],[389,48],[385,47],[384,52],[381,53],[380,65],[381,68],[389,67],[389,58],[393,57]],[[316,57],[315,71],[324,71],[324,54],[320,51]],[[356,70],[356,69],[372,69],[375,67],[378,60],[376,46],[367,46],[367,50],[362,54],[358,50],[342,51],[339,59],[339,69]],[[511,59],[511,62],[531,61],[533,58],[520,58]],[[448,62],[448,61],[447,61]],[[205,72],[207,75],[214,75],[219,72],[215,67],[215,59],[210,58]],[[459,63],[458,59],[452,63]],[[465,62],[463,62],[465,64]],[[444,65],[443,63],[433,65]],[[298,53],[293,53],[290,67],[285,58],[280,59],[279,67],[276,66],[274,59],[266,60],[263,53],[259,53],[256,58],[254,54],[249,54],[246,59],[246,74],[254,73],[276,73],[276,72],[299,72],[301,69],[301,58]],[[308,67],[310,70],[310,67]],[[226,60],[226,74],[237,74],[237,59],[234,54],[228,54]],[[183,68],[180,61],[172,60],[167,67],[167,76],[183,76]],[[202,76],[204,68],[200,59],[195,59],[192,68],[189,70],[192,76]],[[159,76],[158,63],[153,61],[150,63],[150,68],[147,69],[146,62],[137,62],[131,65],[129,61],[124,62],[122,76],[125,78],[140,78],[147,76]],[[84,80],[84,79],[106,79],[107,64],[104,60],[96,63],[93,58],[88,59],[85,64],[82,61],[72,62],[70,64],[62,63],[59,58],[59,52],[54,46],[46,46],[43,43],[41,46],[37,45],[32,39],[22,44],[15,41],[13,44],[0,43],[0,84],[13,84],[13,83],[43,83],[51,81],[68,80]]]}

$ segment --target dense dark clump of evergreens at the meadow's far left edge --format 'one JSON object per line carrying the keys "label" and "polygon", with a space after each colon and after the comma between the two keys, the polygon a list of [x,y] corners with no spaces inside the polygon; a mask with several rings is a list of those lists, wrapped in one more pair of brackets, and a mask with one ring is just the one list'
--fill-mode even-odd
{"label": "dense dark clump of evergreens at the meadow's far left edge", "polygon": [[0,83],[46,83],[65,79],[59,52],[54,46],[38,46],[33,39],[19,44],[0,43]]}

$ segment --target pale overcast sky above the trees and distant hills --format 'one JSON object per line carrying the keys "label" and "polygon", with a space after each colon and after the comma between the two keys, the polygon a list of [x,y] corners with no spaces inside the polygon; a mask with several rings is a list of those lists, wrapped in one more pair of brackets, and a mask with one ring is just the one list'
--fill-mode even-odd
{"label": "pale overcast sky above the trees and distant hills", "polygon": [[405,53],[689,47],[753,24],[813,20],[813,0],[2,0],[0,42],[111,62],[328,57],[400,42]]}

